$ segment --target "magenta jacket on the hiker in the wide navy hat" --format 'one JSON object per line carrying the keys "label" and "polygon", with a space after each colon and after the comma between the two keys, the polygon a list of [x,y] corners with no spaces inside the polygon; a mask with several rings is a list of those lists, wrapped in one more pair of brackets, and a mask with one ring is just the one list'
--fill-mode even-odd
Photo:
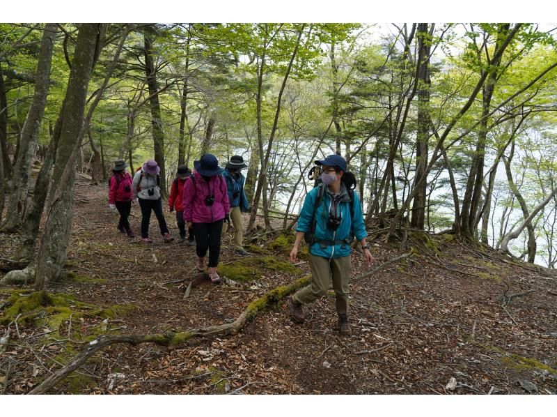
{"label": "magenta jacket on the hiker in the wide navy hat", "polygon": [[[214,195],[212,206],[205,204],[207,195]],[[230,212],[226,181],[221,175],[215,175],[207,183],[201,174],[194,172],[184,183],[182,208],[185,222],[212,223],[222,220]]]}

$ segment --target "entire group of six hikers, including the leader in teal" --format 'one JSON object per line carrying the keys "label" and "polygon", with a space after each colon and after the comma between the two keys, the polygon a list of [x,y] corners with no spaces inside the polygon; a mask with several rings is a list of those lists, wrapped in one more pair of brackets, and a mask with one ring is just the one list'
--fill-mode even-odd
{"label": "entire group of six hikers, including the leader in teal", "polygon": [[[288,298],[288,310],[294,321],[303,323],[302,306],[327,294],[332,282],[338,330],[341,335],[350,335],[348,294],[354,238],[361,244],[368,266],[373,257],[366,243],[367,232],[360,199],[354,192],[356,178],[347,170],[346,160],[342,156],[330,155],[324,160],[316,160],[315,165],[320,175],[315,177],[315,187],[304,199],[297,220],[295,243],[290,252],[290,261],[298,262],[301,241],[308,243],[311,281]],[[120,213],[118,229],[130,238],[134,237],[128,217],[132,201],[139,200],[142,241],[152,243],[148,234],[151,211],[155,211],[164,241],[173,241],[162,213],[157,162],[145,162],[133,179],[125,172],[126,167],[124,160],[116,160],[110,179],[109,206]],[[196,246],[196,269],[200,273],[205,271],[208,252],[207,271],[214,283],[221,282],[217,273],[221,235],[227,232],[230,220],[235,230],[235,255],[249,255],[242,244],[241,213],[250,210],[244,192],[245,178],[241,172],[246,167],[241,156],[233,156],[223,169],[214,155],[206,153],[200,160],[194,161],[193,172],[186,165],[180,165],[171,185],[168,208],[176,212],[180,242]]]}

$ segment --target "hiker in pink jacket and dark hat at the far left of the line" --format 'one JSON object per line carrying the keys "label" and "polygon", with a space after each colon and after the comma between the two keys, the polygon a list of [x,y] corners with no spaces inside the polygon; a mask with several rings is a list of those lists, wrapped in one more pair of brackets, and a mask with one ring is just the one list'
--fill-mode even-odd
{"label": "hiker in pink jacket and dark hat at the far left of the line", "polygon": [[126,172],[127,163],[123,159],[114,161],[112,176],[109,180],[109,208],[117,209],[120,213],[118,230],[127,233],[130,238],[135,237],[127,220],[132,211],[132,176]]}

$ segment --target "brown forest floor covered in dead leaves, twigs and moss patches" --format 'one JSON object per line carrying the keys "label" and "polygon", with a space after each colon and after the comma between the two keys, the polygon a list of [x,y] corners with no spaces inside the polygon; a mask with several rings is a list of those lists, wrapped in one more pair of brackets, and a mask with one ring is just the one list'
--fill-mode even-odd
{"label": "brown forest floor covered in dead leaves, twigs and moss patches", "polygon": [[[66,308],[10,310],[31,298],[31,290],[0,288],[0,338],[10,335],[8,345],[0,345],[0,393],[29,393],[100,333],[225,324],[251,301],[309,271],[307,262],[281,267],[290,250],[284,238],[272,245],[276,236],[267,235],[251,247],[259,254],[239,260],[227,234],[221,273],[243,281],[213,285],[194,273],[195,248],[178,239],[163,243],[154,218],[152,245],[120,234],[106,196],[105,186],[78,180],[65,266],[74,274],[47,285]],[[174,213],[165,214],[178,236]],[[136,205],[131,222],[139,235]],[[15,256],[18,242],[17,234],[0,234],[0,257]],[[372,268],[400,255],[382,239],[370,244]],[[411,257],[363,278],[370,269],[354,251],[350,337],[338,335],[332,291],[305,306],[304,324],[291,321],[283,299],[237,335],[192,338],[171,348],[113,344],[50,392],[557,393],[556,274],[452,235],[413,234],[407,244]],[[194,286],[185,298],[189,282]]]}

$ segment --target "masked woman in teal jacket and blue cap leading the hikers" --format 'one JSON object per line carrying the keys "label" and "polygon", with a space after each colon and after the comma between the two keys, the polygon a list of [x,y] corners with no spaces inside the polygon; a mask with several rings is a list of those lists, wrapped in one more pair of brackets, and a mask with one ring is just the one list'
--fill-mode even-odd
{"label": "masked woman in teal jacket and blue cap leading the hikers", "polygon": [[[363,222],[360,199],[356,192],[349,192],[346,185],[346,160],[341,156],[331,155],[315,163],[323,166],[323,185],[313,188],[306,195],[298,218],[296,241],[290,252],[290,260],[297,262],[301,240],[306,234],[313,232],[315,209],[315,232],[309,243],[311,284],[288,298],[288,308],[292,318],[303,323],[304,310],[301,306],[327,294],[332,280],[340,334],[350,335],[352,330],[348,321],[348,283],[351,273],[352,238],[355,237],[361,243],[368,266],[373,257],[366,244],[368,233]],[[322,200],[315,208],[321,187],[324,187]]]}

